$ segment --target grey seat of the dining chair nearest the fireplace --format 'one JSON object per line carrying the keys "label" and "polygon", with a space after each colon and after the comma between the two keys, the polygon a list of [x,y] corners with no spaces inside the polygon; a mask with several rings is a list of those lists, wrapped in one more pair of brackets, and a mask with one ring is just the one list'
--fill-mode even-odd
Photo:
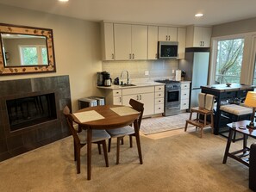
{"label": "grey seat of the dining chair nearest the fireplace", "polygon": [[[82,132],[78,133],[78,138],[80,139],[81,144],[86,144],[87,143],[87,131],[83,130]],[[110,135],[109,135],[109,133],[106,132],[106,130],[97,130],[97,129],[92,130],[92,138],[91,138],[92,143],[100,141],[100,140],[109,139],[109,138],[110,138]]]}

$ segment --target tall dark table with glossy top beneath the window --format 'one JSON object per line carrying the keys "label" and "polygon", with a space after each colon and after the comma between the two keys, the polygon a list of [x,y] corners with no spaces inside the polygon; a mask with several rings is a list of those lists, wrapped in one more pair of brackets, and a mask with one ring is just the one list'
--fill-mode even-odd
{"label": "tall dark table with glossy top beneath the window", "polygon": [[208,86],[201,86],[202,93],[207,93],[215,96],[216,108],[215,108],[215,134],[219,134],[220,118],[221,112],[220,107],[222,102],[226,102],[228,99],[244,99],[247,96],[247,92],[254,90],[253,85],[243,85],[243,84],[231,84],[228,87],[226,84],[213,84]]}

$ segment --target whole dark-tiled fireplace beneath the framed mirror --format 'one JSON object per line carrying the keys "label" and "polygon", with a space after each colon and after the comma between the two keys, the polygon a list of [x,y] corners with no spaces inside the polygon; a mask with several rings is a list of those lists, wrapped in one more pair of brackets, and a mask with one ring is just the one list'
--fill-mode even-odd
{"label": "whole dark-tiled fireplace beneath the framed mirror", "polygon": [[70,135],[68,76],[0,81],[0,161]]}

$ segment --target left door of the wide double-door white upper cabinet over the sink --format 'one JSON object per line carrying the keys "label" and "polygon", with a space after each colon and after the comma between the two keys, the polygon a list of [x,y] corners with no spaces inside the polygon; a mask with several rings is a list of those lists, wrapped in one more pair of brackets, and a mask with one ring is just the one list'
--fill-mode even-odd
{"label": "left door of the wide double-door white upper cabinet over the sink", "polygon": [[132,59],[132,25],[114,23],[116,60]]}

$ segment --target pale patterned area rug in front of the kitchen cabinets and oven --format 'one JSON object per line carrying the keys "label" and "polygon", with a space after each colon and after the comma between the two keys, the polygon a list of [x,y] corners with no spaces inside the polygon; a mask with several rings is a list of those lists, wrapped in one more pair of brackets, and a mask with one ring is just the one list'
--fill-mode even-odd
{"label": "pale patterned area rug in front of the kitchen cabinets and oven", "polygon": [[[143,119],[141,121],[140,131],[147,135],[184,128],[185,122],[189,117],[190,113],[182,113],[179,115]],[[192,125],[189,124],[188,127],[192,127]]]}

